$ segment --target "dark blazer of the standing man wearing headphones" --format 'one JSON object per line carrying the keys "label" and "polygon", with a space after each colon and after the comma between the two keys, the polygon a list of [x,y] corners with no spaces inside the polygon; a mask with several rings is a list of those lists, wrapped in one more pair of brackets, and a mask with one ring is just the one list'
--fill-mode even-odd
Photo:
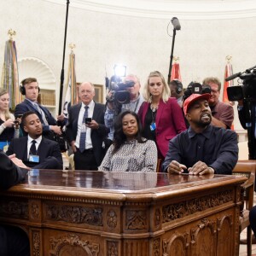
{"label": "dark blazer of the standing man wearing headphones", "polygon": [[[49,125],[57,125],[56,120],[51,115],[49,110],[40,104],[38,104],[38,106],[44,111],[45,118],[47,119]],[[38,118],[41,120],[41,123],[44,124],[41,113],[39,113],[38,110],[34,108],[34,106],[32,105],[32,102],[29,102],[26,99],[15,107],[15,118],[17,118],[19,114],[26,113],[27,111],[33,111],[37,113]],[[48,130],[49,130],[49,126],[43,125],[43,131],[48,131]]]}

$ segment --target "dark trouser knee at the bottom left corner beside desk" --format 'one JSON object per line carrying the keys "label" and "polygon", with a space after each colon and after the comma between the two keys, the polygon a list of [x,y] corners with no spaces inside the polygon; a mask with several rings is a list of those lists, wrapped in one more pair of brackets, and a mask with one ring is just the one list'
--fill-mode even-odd
{"label": "dark trouser knee at the bottom left corner beside desk", "polygon": [[20,228],[0,226],[0,256],[29,256],[30,247],[26,233]]}

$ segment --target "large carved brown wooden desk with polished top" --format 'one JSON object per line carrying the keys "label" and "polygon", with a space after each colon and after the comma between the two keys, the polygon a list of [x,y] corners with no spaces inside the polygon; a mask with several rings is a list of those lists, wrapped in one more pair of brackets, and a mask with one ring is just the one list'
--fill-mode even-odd
{"label": "large carved brown wooden desk with polished top", "polygon": [[245,177],[32,171],[0,193],[0,221],[32,255],[234,256]]}

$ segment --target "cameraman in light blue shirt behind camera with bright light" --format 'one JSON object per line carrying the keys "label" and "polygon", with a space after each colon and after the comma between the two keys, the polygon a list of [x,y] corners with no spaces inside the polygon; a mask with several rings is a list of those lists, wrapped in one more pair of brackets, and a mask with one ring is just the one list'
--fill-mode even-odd
{"label": "cameraman in light blue shirt behind camera with bright light", "polygon": [[[137,78],[136,75],[130,74],[125,77],[125,83],[133,82],[134,85],[131,87],[126,87],[125,90],[129,92],[130,95],[130,102],[126,104],[121,104],[121,109],[120,112],[124,112],[125,110],[130,110],[132,112],[137,113],[139,108],[141,107],[142,103],[144,102],[143,96],[140,94],[140,80]],[[108,93],[108,99],[113,96],[113,91],[110,90]],[[114,125],[114,119],[115,115],[117,116],[118,113],[115,103],[113,101],[108,101],[107,99],[107,108],[104,114],[104,122],[106,127],[109,128],[109,133],[108,133],[108,143],[106,145],[106,148],[110,146],[110,144],[113,141],[113,125]],[[119,111],[118,111],[119,112]]]}

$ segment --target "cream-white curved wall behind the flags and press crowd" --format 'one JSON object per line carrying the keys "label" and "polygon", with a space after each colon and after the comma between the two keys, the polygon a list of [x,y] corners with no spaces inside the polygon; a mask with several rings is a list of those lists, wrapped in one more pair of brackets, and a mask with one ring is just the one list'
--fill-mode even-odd
{"label": "cream-white curved wall behind the flags and press crowd", "polygon": [[[63,2],[66,2],[63,0]],[[72,2],[72,1],[71,1]],[[34,56],[45,61],[60,80],[66,5],[43,0],[1,0],[0,68],[9,28],[17,32],[18,59]],[[172,16],[170,17],[170,19]],[[256,65],[256,17],[231,20],[179,19],[174,55],[180,58],[183,84],[206,76],[224,80],[225,56],[232,55],[234,73]],[[136,73],[144,84],[148,73],[168,74],[172,38],[169,20],[112,15],[69,7],[65,71],[70,49],[76,44],[77,81],[104,84],[115,63]],[[172,24],[169,32],[172,35]],[[2,53],[2,54],[1,54]],[[236,112],[236,109],[235,109]],[[241,129],[236,119],[236,129]]]}

